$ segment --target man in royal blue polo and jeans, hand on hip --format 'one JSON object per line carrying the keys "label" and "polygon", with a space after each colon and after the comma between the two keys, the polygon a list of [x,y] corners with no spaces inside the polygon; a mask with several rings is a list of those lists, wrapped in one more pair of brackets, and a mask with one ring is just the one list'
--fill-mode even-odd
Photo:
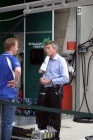
{"label": "man in royal blue polo and jeans, hand on hip", "polygon": [[[8,38],[3,47],[5,52],[0,55],[0,98],[5,101],[14,101],[18,95],[16,84],[21,75],[20,63],[15,57],[18,40]],[[15,110],[15,106],[2,105],[1,140],[11,140]]]}

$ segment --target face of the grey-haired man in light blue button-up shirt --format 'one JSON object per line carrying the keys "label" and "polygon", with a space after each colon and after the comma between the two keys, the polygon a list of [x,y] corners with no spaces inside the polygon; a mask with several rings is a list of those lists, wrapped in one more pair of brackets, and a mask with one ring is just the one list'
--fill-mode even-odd
{"label": "face of the grey-haired man in light blue button-up shirt", "polygon": [[53,48],[51,44],[46,45],[44,50],[45,50],[45,53],[51,58],[53,58],[55,54],[57,53],[56,49]]}

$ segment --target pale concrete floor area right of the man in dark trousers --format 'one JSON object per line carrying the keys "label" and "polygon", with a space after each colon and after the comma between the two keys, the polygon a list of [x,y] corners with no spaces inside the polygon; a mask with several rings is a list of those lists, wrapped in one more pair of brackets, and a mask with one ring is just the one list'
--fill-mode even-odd
{"label": "pale concrete floor area right of the man in dark trousers", "polygon": [[61,123],[61,140],[85,140],[93,135],[93,123],[78,123],[73,117],[64,117]]}

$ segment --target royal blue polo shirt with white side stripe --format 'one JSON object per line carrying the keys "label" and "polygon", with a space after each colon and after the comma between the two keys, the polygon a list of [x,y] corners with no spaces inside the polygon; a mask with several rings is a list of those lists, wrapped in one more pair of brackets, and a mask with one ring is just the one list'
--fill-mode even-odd
{"label": "royal blue polo shirt with white side stripe", "polygon": [[8,81],[14,79],[16,67],[20,67],[17,57],[7,52],[0,55],[0,98],[12,99],[17,97],[18,89],[7,86]]}

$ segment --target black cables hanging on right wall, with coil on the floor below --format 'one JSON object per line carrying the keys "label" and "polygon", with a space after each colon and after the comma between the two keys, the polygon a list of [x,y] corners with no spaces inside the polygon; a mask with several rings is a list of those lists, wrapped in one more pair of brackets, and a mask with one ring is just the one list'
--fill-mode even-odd
{"label": "black cables hanging on right wall, with coil on the floor below", "polygon": [[[88,61],[88,66],[87,66],[87,71],[86,71],[86,63],[85,63],[85,56],[84,56],[84,51],[88,51],[88,49],[90,47],[93,47],[93,38],[90,39],[90,36],[93,32],[93,28],[90,32],[90,35],[89,35],[89,38],[88,38],[88,41],[80,44],[78,46],[78,49],[82,48],[80,50],[80,52],[83,51],[83,53],[81,53],[81,62],[82,62],[82,77],[83,77],[83,89],[84,89],[84,93],[83,93],[83,99],[82,99],[82,102],[81,102],[81,105],[80,105],[80,108],[78,110],[78,112],[81,110],[81,107],[83,105],[83,102],[84,102],[84,98],[85,98],[85,101],[86,101],[86,106],[87,106],[87,109],[88,109],[88,112],[90,113],[90,109],[89,109],[89,106],[88,106],[88,102],[87,102],[87,97],[86,97],[86,92],[87,92],[87,88],[88,88],[88,81],[89,81],[89,68],[90,68],[90,60],[93,56],[93,51],[92,51],[92,55],[90,56],[89,58],[89,61]],[[86,46],[87,45],[87,46]],[[86,52],[85,51],[85,52]],[[86,75],[86,72],[87,72],[87,75]],[[90,118],[90,117],[79,117],[79,116],[75,116],[73,121],[75,122],[84,122],[84,123],[93,123],[93,118]]]}

